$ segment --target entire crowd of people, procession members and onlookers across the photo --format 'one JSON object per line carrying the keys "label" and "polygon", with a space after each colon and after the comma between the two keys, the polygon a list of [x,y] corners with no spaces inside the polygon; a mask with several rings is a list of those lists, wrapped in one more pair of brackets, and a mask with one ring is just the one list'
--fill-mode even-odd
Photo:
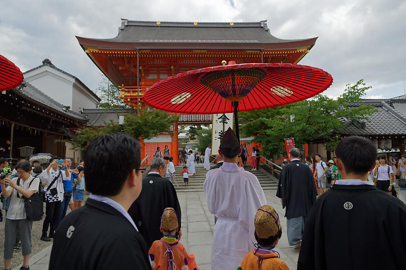
{"label": "entire crowd of people, procession members and onlookers across the photo", "polygon": [[[23,267],[28,267],[32,221],[27,220],[20,198],[29,198],[43,187],[47,202],[43,236],[48,238],[50,226],[49,237],[54,238],[49,269],[197,270],[194,255],[180,242],[182,211],[167,178],[168,172],[173,177],[173,159],[155,157],[143,177],[140,149],[129,135],[111,134],[90,142],[85,168],[73,169],[70,160],[60,164],[58,159],[51,159],[42,172],[37,166],[32,172],[25,161],[17,164],[18,177],[0,179],[4,197],[11,198],[5,268],[10,268],[17,232]],[[220,143],[218,164],[206,174],[204,190],[215,216],[212,269],[288,269],[275,251],[285,229],[289,245],[300,249],[298,269],[404,268],[406,206],[391,195],[395,175],[406,177],[406,155],[392,168],[386,156],[377,159],[370,141],[356,136],[343,139],[335,159],[327,164],[320,155],[302,163],[299,149],[291,148],[276,194],[285,209],[284,228],[275,208],[267,204],[258,178],[240,166],[244,150],[228,129]],[[193,162],[193,152],[187,156]],[[0,173],[7,165],[1,162]],[[184,178],[193,167],[188,165]],[[75,184],[75,191],[86,186],[90,196],[84,207],[74,204],[78,209],[58,224],[62,202],[69,198],[66,181]],[[188,179],[184,181],[187,184]],[[326,182],[332,184],[329,190]],[[82,195],[81,191],[74,194],[74,202],[82,201],[75,199]]]}

